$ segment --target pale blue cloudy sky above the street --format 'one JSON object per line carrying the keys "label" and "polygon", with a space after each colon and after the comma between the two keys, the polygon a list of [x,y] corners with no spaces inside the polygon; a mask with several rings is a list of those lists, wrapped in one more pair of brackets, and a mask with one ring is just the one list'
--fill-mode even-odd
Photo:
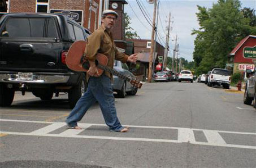
{"label": "pale blue cloudy sky above the street", "polygon": [[[136,0],[126,0],[128,4],[124,6],[124,12],[128,13],[131,17],[131,27],[141,39],[151,39],[152,28],[142,14]],[[154,4],[147,3],[146,0],[138,0],[142,7],[144,7],[145,12],[151,20],[153,20]],[[197,5],[212,8],[213,3],[218,1],[210,0],[159,0],[159,19],[158,19],[158,32],[159,39],[158,43],[162,43],[165,47],[166,34],[168,27],[168,17],[169,12],[171,12],[171,31],[169,46],[170,51],[168,52],[168,57],[172,57],[175,46],[175,38],[177,35],[177,43],[179,44],[179,57],[185,58],[185,60],[193,61],[193,51],[194,51],[194,39],[196,35],[191,35],[192,30],[198,30],[199,25],[197,21],[196,13]],[[242,8],[250,7],[256,8],[256,1],[242,0]],[[156,20],[157,21],[157,20]]]}

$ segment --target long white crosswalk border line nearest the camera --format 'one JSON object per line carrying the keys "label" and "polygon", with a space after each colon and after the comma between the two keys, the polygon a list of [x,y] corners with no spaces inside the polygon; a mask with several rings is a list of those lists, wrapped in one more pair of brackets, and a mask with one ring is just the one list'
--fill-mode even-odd
{"label": "long white crosswalk border line nearest the camera", "polygon": [[[10,134],[10,135],[32,135],[31,133],[18,133],[18,132],[8,132],[0,131],[0,134]],[[165,142],[165,143],[182,143],[178,140],[169,139],[148,139],[148,138],[122,138],[122,137],[100,137],[100,136],[88,136],[88,135],[60,135],[60,134],[44,134],[44,135],[33,135],[42,137],[62,137],[62,138],[86,138],[86,139],[106,139],[106,140],[132,140],[141,142]],[[245,149],[256,149],[256,146],[243,146],[236,144],[215,144],[207,142],[189,142],[190,144],[198,144],[205,146],[217,146],[217,147],[232,147],[232,148],[245,148]]]}

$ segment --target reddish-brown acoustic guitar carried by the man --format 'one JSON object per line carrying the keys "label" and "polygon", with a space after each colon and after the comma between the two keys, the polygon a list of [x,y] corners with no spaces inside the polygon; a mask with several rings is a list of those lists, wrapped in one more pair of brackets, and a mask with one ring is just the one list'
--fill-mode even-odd
{"label": "reddish-brown acoustic guitar carried by the man", "polygon": [[[83,72],[86,72],[89,70],[89,67],[90,67],[89,61],[86,60],[84,55],[85,47],[86,47],[86,42],[83,40],[78,40],[71,45],[66,57],[66,64],[69,69],[73,71],[83,71]],[[107,72],[110,72],[110,74],[112,75],[116,75],[119,78],[128,81],[136,88],[142,87],[142,83],[140,81],[129,78],[128,76],[121,74],[115,69],[111,69],[110,67],[108,67],[107,61],[108,61],[107,56],[101,53],[97,53],[95,63],[96,63],[99,75],[101,75],[104,71],[107,71]]]}

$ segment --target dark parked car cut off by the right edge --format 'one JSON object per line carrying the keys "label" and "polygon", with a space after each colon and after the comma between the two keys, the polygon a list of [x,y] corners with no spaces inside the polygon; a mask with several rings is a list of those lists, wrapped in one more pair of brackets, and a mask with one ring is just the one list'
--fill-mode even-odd
{"label": "dark parked car cut off by the right edge", "polygon": [[251,70],[246,70],[248,74],[248,79],[245,84],[245,93],[244,93],[244,103],[246,105],[251,105],[251,102],[254,102],[254,108],[256,108],[256,68],[252,72]]}

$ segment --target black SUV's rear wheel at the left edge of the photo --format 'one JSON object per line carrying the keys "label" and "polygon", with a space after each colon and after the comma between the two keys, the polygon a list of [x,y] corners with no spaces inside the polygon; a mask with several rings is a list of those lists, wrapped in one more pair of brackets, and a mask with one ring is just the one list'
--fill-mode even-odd
{"label": "black SUV's rear wheel at the left edge of the photo", "polygon": [[12,101],[14,101],[14,89],[6,88],[5,85],[0,84],[0,106],[11,106]]}

